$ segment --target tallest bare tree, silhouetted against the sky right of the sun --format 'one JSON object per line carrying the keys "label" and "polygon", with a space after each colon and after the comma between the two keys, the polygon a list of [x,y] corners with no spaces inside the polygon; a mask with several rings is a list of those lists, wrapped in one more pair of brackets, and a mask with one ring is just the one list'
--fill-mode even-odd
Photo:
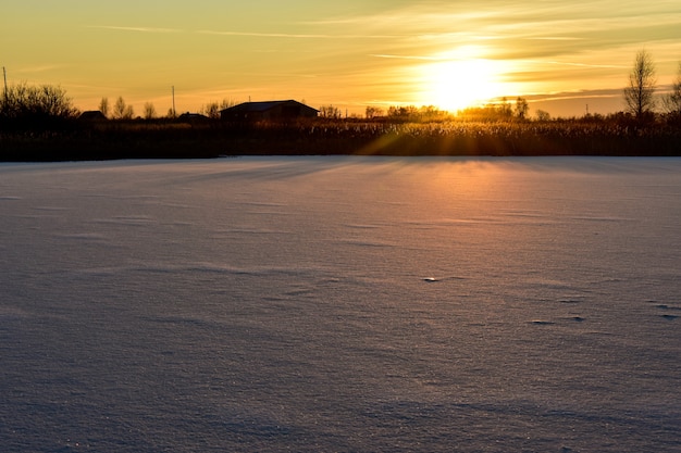
{"label": "tallest bare tree, silhouetted against the sky right of the sun", "polygon": [[624,88],[627,110],[641,119],[646,113],[655,109],[655,63],[651,54],[644,49],[636,53],[634,67],[629,73],[629,86]]}

